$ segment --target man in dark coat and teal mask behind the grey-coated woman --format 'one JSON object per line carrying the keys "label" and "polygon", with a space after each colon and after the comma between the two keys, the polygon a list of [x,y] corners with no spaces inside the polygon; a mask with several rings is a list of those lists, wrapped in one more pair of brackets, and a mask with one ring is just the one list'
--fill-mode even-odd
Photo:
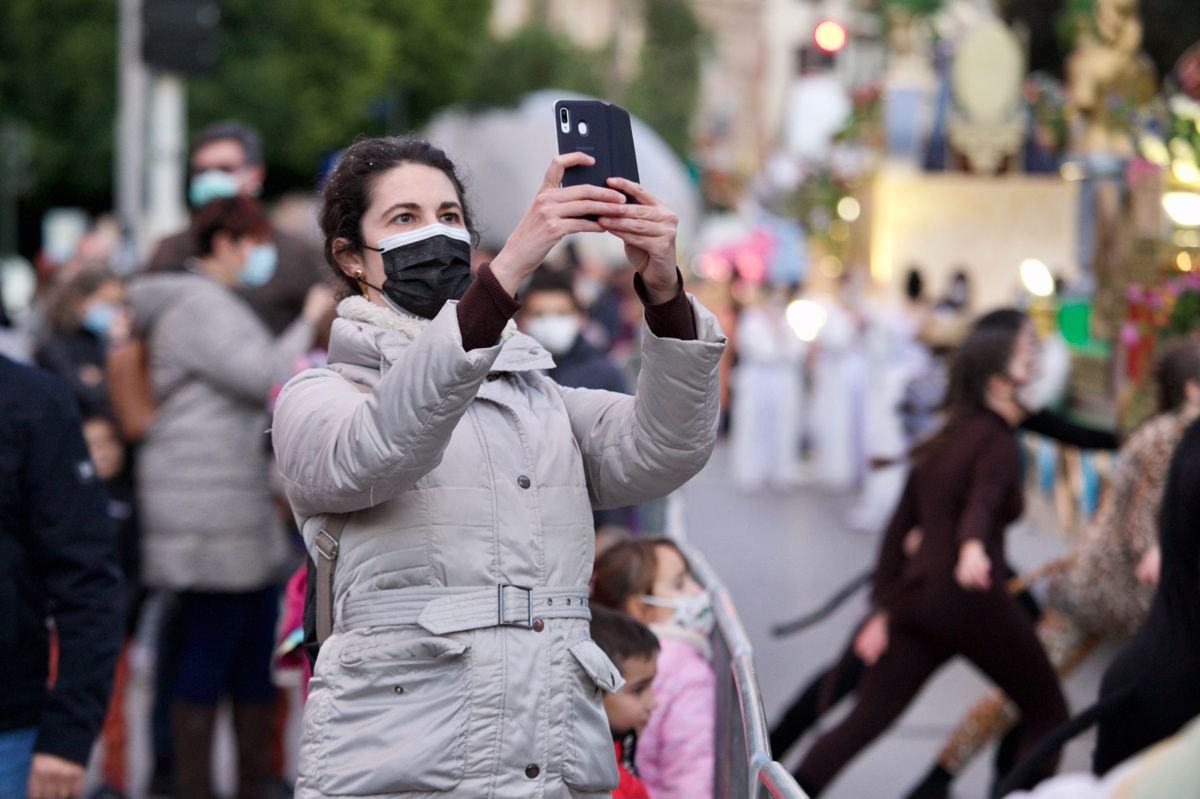
{"label": "man in dark coat and teal mask behind the grey-coated woman", "polygon": [[[214,199],[258,197],[266,169],[258,133],[233,121],[215,122],[192,140],[188,162],[187,200],[196,211]],[[274,335],[283,332],[300,316],[308,289],[324,280],[324,265],[316,246],[271,228],[274,264],[264,248],[250,272],[242,276],[241,292]],[[164,238],[150,257],[148,269],[185,268],[199,254],[191,228]]]}

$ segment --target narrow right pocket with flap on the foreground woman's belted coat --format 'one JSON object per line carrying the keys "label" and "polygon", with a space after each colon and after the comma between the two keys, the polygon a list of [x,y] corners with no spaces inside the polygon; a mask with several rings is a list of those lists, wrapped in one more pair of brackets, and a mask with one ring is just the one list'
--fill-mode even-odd
{"label": "narrow right pocket with flap on the foreground woman's belted coat", "polygon": [[563,781],[577,791],[612,791],[617,787],[617,757],[602,692],[616,693],[624,680],[590,638],[571,644],[569,651],[571,679],[566,729],[571,745],[563,762]]}

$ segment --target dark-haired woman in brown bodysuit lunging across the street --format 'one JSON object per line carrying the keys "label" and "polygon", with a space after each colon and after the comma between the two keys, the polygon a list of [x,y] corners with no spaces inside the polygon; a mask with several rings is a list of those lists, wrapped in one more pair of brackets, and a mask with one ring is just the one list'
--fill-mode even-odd
{"label": "dark-haired woman in brown bodysuit lunging across the street", "polygon": [[[1015,330],[985,329],[962,344],[950,372],[946,422],[913,453],[875,571],[875,614],[854,651],[868,665],[854,709],[796,773],[812,797],[888,728],[932,673],[962,655],[1021,711],[1018,755],[1066,719],[1054,669],[1028,617],[1008,593],[1004,529],[1021,515],[1013,428],[1033,348]],[[905,537],[919,528],[911,555]]]}

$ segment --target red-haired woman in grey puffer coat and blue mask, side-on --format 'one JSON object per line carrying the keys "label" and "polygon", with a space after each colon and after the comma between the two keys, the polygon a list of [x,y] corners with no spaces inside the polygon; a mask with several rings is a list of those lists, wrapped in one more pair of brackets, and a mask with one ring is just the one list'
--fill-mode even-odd
{"label": "red-haired woman in grey puffer coat and blue mask, side-on", "polygon": [[274,780],[277,585],[292,567],[270,483],[266,408],[276,380],[328,325],[332,293],[310,289],[300,318],[272,337],[239,295],[276,269],[262,206],[214,199],[197,211],[192,236],[198,256],[185,271],[150,272],[128,289],[156,404],[137,461],[142,577],[179,596],[178,667],[168,675],[173,795],[212,795],[212,727],[226,698],[238,795],[264,795]]}

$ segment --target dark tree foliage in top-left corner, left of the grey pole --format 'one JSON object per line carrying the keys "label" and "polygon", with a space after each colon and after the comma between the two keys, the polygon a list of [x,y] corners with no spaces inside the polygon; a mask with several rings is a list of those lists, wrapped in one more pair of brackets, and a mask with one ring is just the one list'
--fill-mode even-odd
{"label": "dark tree foliage in top-left corner, left of the grey pole", "polygon": [[26,202],[112,203],[115,0],[0,2],[0,118],[32,131]]}

